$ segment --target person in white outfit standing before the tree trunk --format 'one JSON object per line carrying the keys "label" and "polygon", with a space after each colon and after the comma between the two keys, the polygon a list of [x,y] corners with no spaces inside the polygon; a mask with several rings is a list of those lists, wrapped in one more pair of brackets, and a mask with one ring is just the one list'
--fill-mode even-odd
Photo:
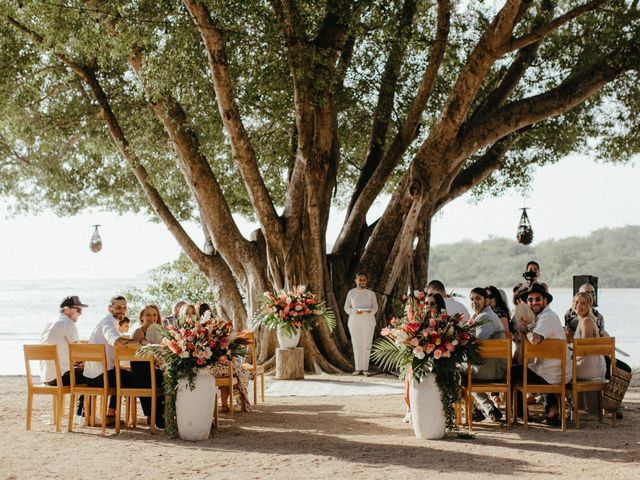
{"label": "person in white outfit standing before the tree trunk", "polygon": [[373,343],[373,332],[376,329],[376,312],[378,301],[376,294],[367,287],[367,276],[364,273],[356,275],[356,288],[347,293],[344,302],[344,311],[349,315],[349,332],[353,343],[353,356],[355,371],[353,375],[361,372],[369,375],[369,356]]}

